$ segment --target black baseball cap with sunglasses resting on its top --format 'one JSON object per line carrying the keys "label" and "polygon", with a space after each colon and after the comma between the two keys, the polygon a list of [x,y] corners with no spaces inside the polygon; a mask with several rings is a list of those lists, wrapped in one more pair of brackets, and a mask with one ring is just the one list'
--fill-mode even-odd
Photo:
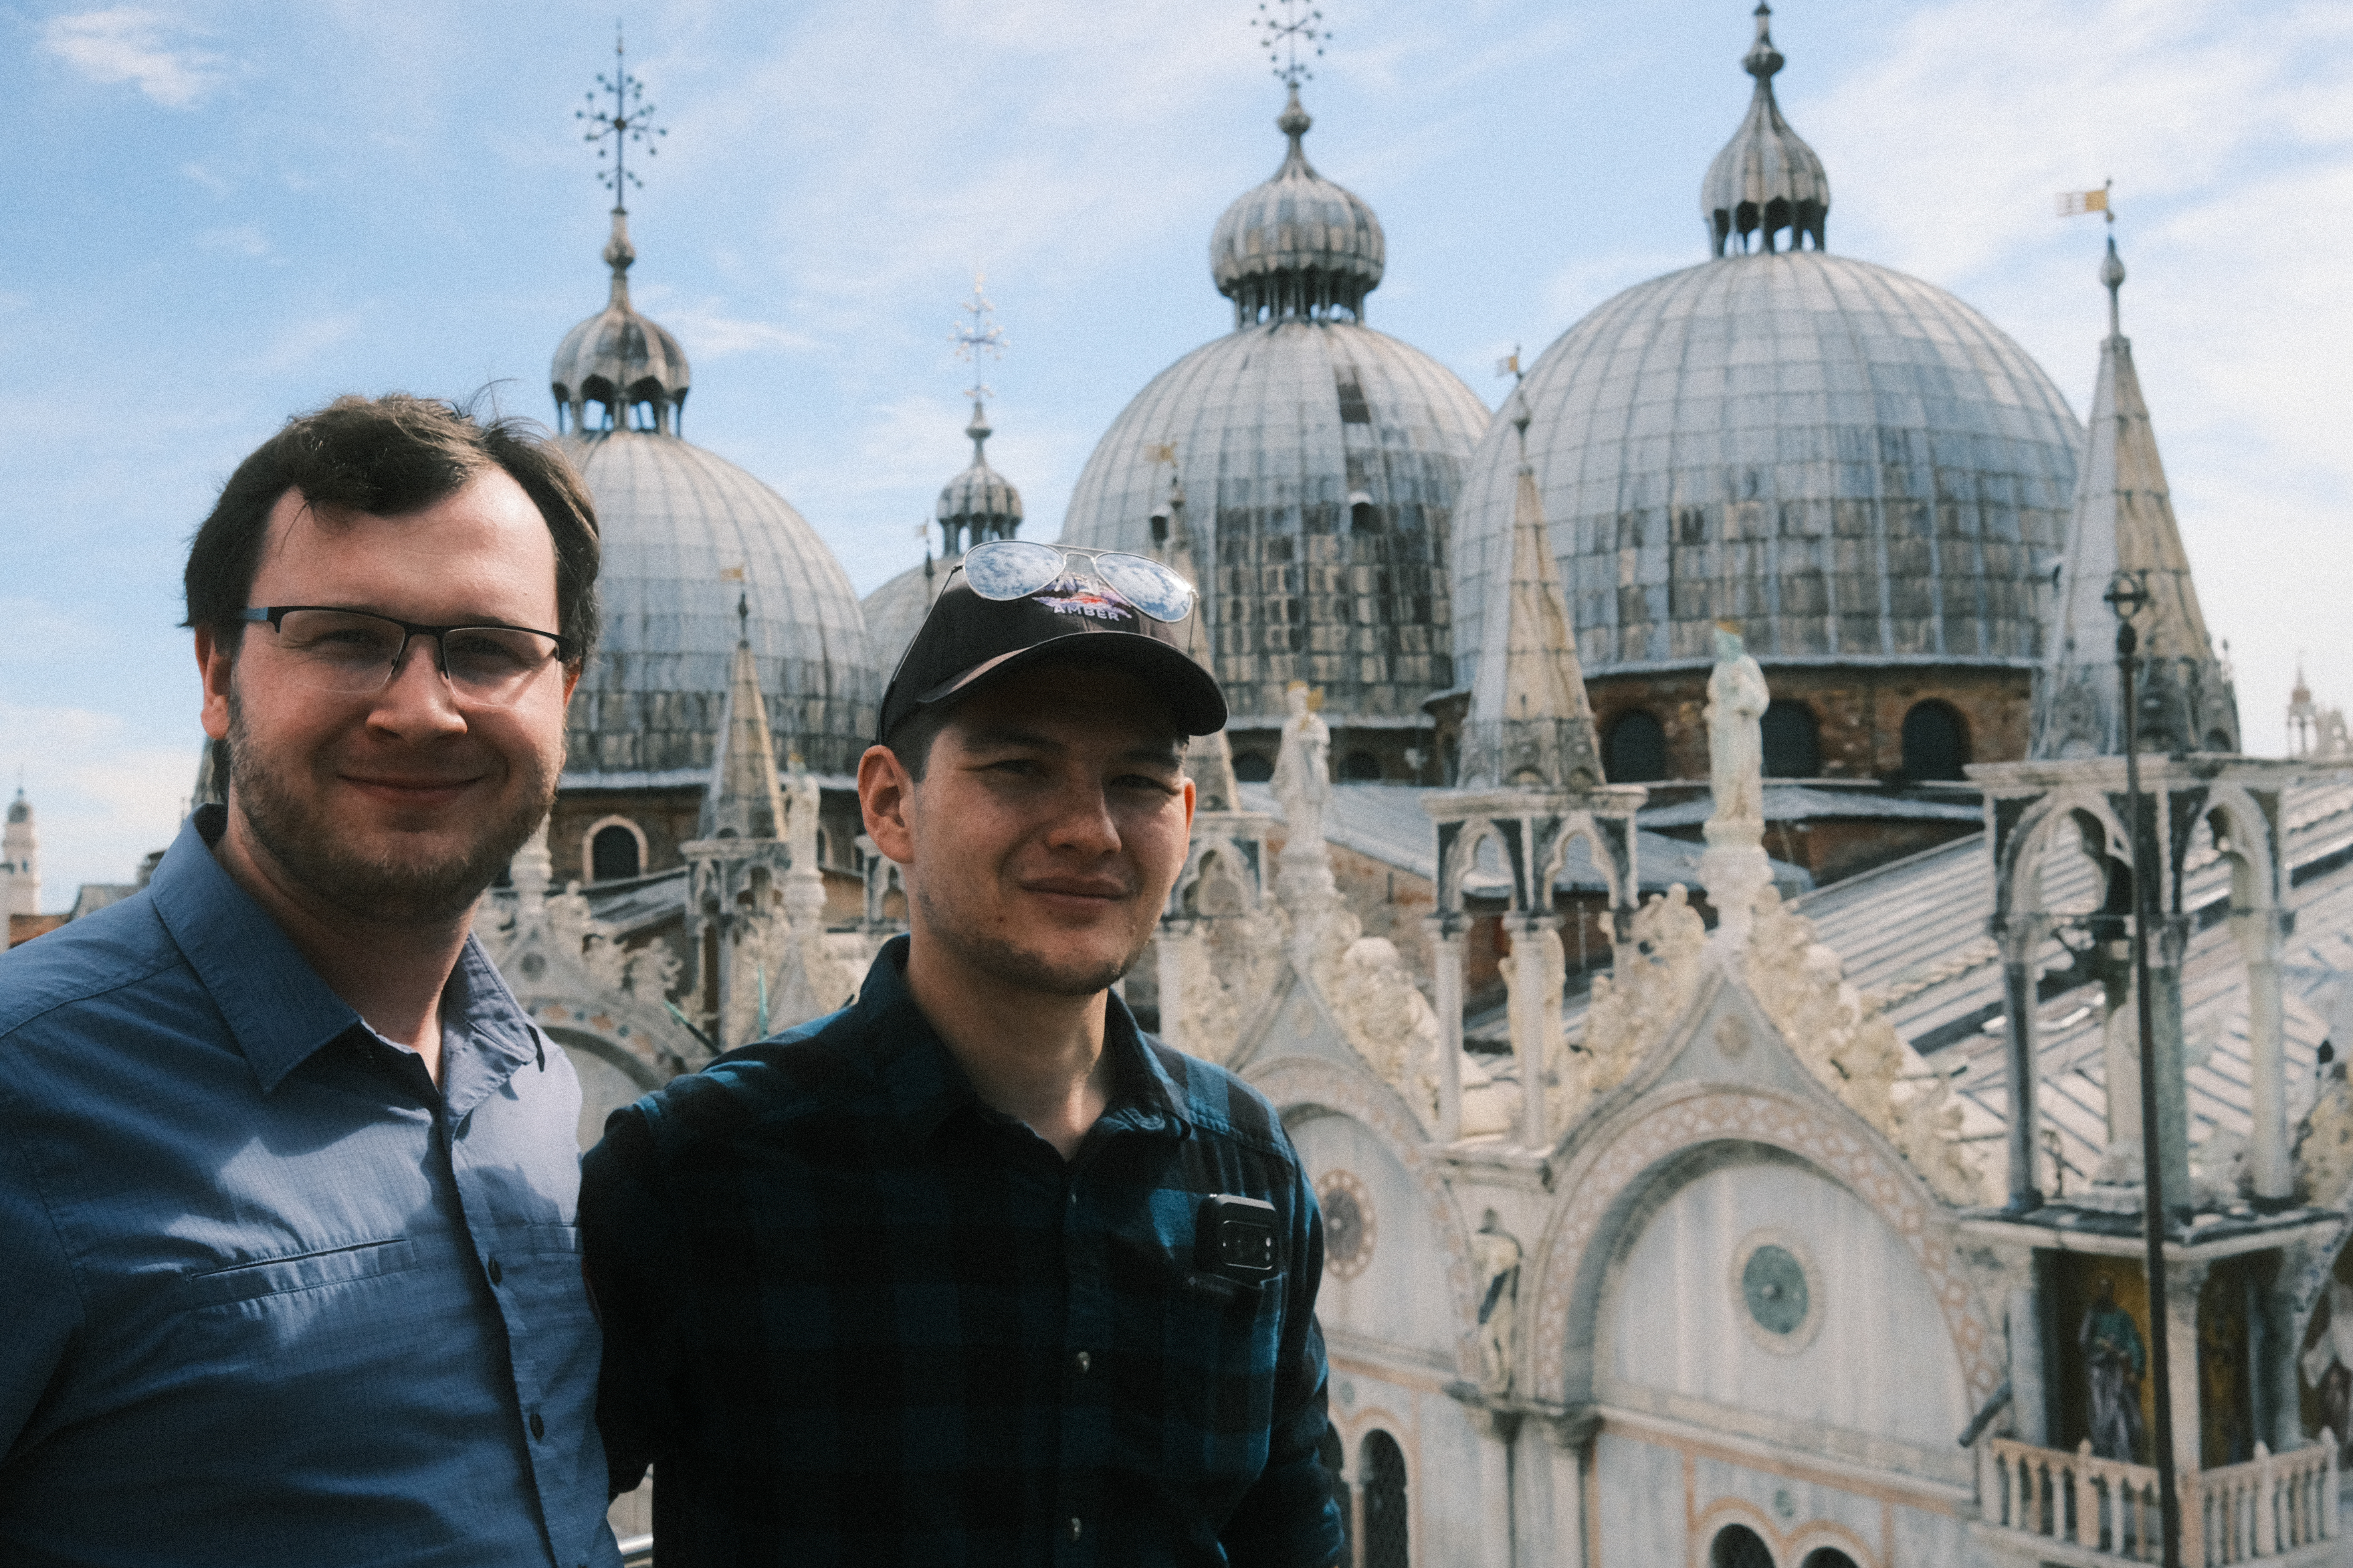
{"label": "black baseball cap with sunglasses resting on its top", "polygon": [[[974,555],[986,548],[974,545]],[[1021,548],[1052,545],[1021,541]],[[889,733],[918,708],[953,703],[1014,670],[1049,661],[1127,670],[1167,701],[1184,733],[1207,736],[1224,729],[1226,693],[1186,651],[1184,621],[1193,614],[1191,604],[1174,623],[1146,616],[1129,595],[1096,571],[1092,555],[1071,550],[1049,583],[1016,597],[974,592],[965,567],[958,564],[882,693],[875,745],[887,745]],[[1165,571],[1141,557],[1108,557],[1106,564],[1115,559]]]}

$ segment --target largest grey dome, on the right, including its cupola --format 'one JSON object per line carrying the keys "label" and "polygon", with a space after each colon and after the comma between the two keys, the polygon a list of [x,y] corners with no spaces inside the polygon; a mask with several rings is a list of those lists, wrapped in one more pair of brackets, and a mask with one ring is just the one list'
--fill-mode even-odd
{"label": "largest grey dome, on the right, including its cupola", "polygon": [[[1605,301],[1520,388],[1595,710],[1617,677],[1706,670],[1729,621],[1784,670],[1777,693],[1831,679],[1807,665],[1937,668],[1960,682],[1934,696],[1977,731],[1969,757],[2019,755],[2082,428],[1967,303],[1821,249],[1828,179],[1772,103],[1765,16],[1755,101],[1701,188],[1715,259]],[[1518,465],[1499,425],[1464,482],[1454,649],[1473,691],[1501,682]],[[1795,771],[1904,771],[1882,741],[1906,710],[1861,689],[1807,701],[1793,722],[1826,762]],[[1668,741],[1668,776],[1704,769]]]}

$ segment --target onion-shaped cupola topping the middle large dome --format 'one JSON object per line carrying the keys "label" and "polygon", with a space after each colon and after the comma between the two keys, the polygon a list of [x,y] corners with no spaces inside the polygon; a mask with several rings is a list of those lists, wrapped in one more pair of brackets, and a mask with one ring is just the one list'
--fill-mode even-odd
{"label": "onion-shaped cupola topping the middle large dome", "polygon": [[1334,310],[1360,322],[1365,296],[1381,287],[1381,219],[1365,197],[1315,172],[1304,146],[1311,125],[1294,85],[1275,120],[1292,150],[1209,235],[1209,275],[1233,301],[1235,327]]}

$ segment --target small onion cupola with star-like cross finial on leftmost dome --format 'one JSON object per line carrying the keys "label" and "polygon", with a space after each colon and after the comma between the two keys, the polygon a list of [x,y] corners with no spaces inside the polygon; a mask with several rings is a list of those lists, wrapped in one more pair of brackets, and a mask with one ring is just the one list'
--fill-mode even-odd
{"label": "small onion cupola with star-like cross finial on leftmost dome", "polygon": [[[600,313],[567,331],[555,348],[548,390],[555,393],[558,430],[584,433],[588,404],[600,404],[605,430],[678,435],[692,383],[687,350],[661,324],[638,315],[628,299],[628,268],[638,261],[638,247],[628,237],[624,200],[631,186],[645,188],[626,162],[631,143],[652,158],[654,141],[668,132],[652,125],[654,106],[645,101],[645,85],[626,71],[619,28],[612,38],[612,75],[598,75],[588,106],[574,110],[574,120],[588,125],[586,139],[598,143],[598,183],[612,190],[612,237],[602,252],[605,266],[612,268],[612,294]],[[612,108],[598,103],[600,94],[612,94]],[[612,165],[602,167],[607,155]]]}

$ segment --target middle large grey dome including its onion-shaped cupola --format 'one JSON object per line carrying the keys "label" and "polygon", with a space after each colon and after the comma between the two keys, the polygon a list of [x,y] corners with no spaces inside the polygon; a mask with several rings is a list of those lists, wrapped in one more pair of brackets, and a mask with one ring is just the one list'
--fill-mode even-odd
{"label": "middle large grey dome including its onion-shaped cupola", "polygon": [[[1233,729],[1278,724],[1304,679],[1337,731],[1365,731],[1334,743],[1344,776],[1402,776],[1424,698],[1454,682],[1447,534],[1487,407],[1362,322],[1381,226],[1308,165],[1297,92],[1275,125],[1289,153],[1226,212],[1209,256],[1235,331],[1136,393],[1061,536],[1155,552],[1181,529]],[[1268,759],[1235,752],[1245,776]]]}

